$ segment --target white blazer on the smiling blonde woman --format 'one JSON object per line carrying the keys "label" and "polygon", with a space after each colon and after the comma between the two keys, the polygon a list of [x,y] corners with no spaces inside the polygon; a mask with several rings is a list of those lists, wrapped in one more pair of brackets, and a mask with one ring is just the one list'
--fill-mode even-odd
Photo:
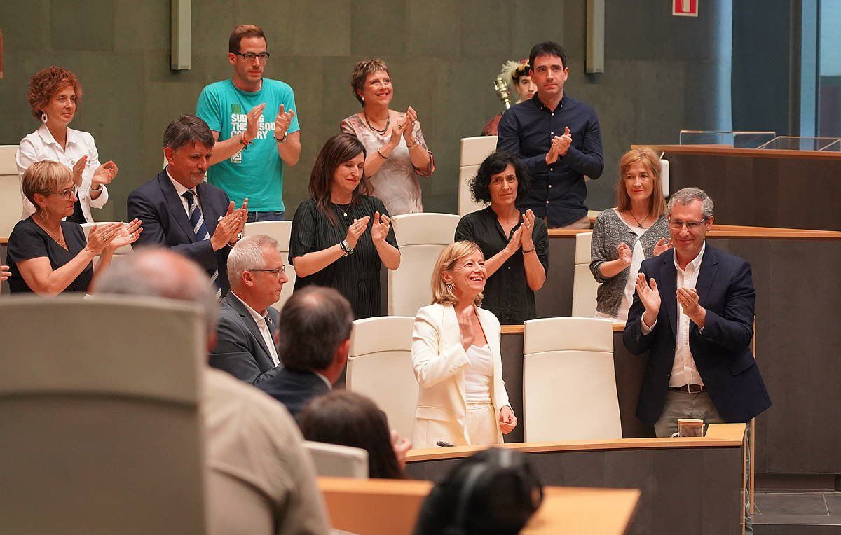
{"label": "white blazer on the smiling blonde woman", "polygon": [[[476,307],[476,313],[494,358],[490,396],[499,422],[500,409],[510,405],[502,380],[500,321],[482,308]],[[452,305],[422,307],[412,333],[412,368],[420,386],[412,433],[415,448],[435,448],[439,440],[454,446],[470,443],[464,386],[464,370],[469,364]],[[496,433],[497,442],[502,443],[499,424]]]}

